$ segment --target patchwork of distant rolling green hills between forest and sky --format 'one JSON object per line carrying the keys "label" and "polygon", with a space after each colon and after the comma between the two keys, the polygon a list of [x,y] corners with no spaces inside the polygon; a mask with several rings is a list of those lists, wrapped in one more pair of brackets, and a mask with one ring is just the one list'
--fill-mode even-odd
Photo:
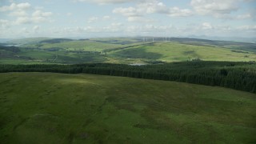
{"label": "patchwork of distant rolling green hills between forest and sky", "polygon": [[[86,62],[151,63],[204,61],[256,61],[256,44],[222,42],[190,38],[172,38],[143,42],[142,38],[27,38],[16,40],[14,48],[0,46],[1,64]],[[26,43],[27,41],[27,43]],[[16,43],[15,43],[16,42]],[[7,45],[7,44],[6,44]],[[7,45],[8,46],[8,45]]]}

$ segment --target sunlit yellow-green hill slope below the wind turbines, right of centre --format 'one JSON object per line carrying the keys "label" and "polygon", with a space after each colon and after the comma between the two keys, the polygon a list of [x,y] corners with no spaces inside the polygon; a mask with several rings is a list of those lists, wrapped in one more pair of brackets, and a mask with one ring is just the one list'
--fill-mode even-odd
{"label": "sunlit yellow-green hill slope below the wind turbines, right of centre", "polygon": [[252,52],[238,53],[230,49],[214,46],[193,46],[176,42],[154,43],[149,46],[137,46],[126,50],[112,52],[114,57],[145,58],[166,62],[186,61],[200,58],[206,61],[255,61]]}

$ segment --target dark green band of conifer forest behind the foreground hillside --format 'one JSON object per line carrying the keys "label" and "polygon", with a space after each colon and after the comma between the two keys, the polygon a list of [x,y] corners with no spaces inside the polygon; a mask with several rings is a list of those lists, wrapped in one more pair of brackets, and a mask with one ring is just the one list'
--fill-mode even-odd
{"label": "dark green band of conifer forest behind the foreground hillside", "polygon": [[0,72],[102,74],[189,82],[207,86],[223,86],[256,93],[255,62],[173,62],[146,66],[106,63],[78,65],[0,65]]}

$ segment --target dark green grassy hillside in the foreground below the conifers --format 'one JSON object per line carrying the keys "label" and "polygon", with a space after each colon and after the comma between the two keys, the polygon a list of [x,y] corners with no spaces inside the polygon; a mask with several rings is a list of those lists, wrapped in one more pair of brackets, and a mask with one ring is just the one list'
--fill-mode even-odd
{"label": "dark green grassy hillside in the foreground below the conifers", "polygon": [[4,143],[256,142],[256,95],[90,74],[0,74]]}

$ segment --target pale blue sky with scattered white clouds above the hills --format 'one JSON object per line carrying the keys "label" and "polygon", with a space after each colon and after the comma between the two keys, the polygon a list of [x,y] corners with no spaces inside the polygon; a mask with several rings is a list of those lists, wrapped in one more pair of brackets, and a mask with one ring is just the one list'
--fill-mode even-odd
{"label": "pale blue sky with scattered white clouds above the hills", "polygon": [[256,0],[0,0],[0,38],[256,38]]}

